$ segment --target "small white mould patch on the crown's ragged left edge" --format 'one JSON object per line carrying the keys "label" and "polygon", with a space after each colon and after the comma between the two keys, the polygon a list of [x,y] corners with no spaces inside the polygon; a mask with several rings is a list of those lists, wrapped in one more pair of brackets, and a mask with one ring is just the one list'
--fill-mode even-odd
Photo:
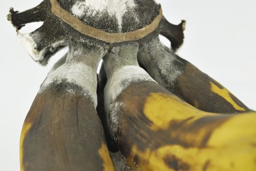
{"label": "small white mould patch on the crown's ragged left edge", "polygon": [[36,49],[37,45],[34,38],[29,33],[17,33],[19,42],[28,51],[29,55],[35,60],[39,61],[41,58],[40,52]]}

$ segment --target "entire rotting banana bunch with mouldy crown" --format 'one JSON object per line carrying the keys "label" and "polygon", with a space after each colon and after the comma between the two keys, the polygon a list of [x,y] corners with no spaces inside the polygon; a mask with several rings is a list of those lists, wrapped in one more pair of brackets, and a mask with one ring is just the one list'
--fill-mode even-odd
{"label": "entire rotting banana bunch with mouldy crown", "polygon": [[70,49],[25,118],[21,171],[256,171],[256,112],[174,54],[186,22],[155,0],[43,0],[7,18],[42,65]]}

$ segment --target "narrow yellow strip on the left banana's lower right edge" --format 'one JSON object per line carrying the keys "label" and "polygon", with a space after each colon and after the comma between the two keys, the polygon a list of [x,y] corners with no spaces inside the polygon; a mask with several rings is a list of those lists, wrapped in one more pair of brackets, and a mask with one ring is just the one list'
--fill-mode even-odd
{"label": "narrow yellow strip on the left banana's lower right edge", "polygon": [[103,161],[103,171],[115,171],[113,162],[109,155],[108,147],[105,143],[102,142],[101,148],[98,150],[98,153]]}

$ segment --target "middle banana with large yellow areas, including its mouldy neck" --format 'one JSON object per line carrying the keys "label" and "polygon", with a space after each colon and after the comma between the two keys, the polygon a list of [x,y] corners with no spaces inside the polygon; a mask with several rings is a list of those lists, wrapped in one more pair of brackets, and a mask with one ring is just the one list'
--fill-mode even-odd
{"label": "middle banana with large yellow areas, including its mouldy neck", "polygon": [[112,137],[132,169],[256,170],[255,112],[224,115],[198,110],[139,67],[137,56],[131,56],[135,44],[116,46],[104,58],[105,108]]}

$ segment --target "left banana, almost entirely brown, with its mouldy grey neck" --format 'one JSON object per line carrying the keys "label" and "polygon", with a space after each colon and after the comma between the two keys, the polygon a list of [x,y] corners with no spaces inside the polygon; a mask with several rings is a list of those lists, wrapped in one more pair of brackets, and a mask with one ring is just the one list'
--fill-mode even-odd
{"label": "left banana, almost entirely brown, with its mouldy grey neck", "polygon": [[115,170],[95,109],[96,68],[106,51],[70,43],[48,74],[23,124],[21,171]]}

